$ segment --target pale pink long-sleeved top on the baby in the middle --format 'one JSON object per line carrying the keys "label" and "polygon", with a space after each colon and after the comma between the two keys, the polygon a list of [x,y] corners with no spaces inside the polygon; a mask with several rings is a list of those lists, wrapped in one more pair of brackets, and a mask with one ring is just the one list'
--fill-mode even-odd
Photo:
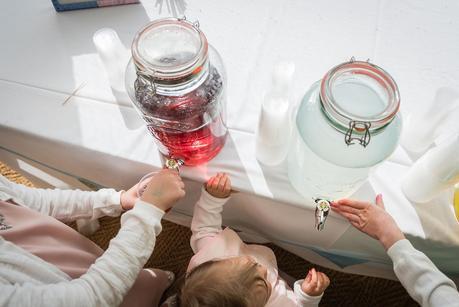
{"label": "pale pink long-sleeved top on the baby in the middle", "polygon": [[[204,188],[201,193],[199,201],[194,206],[193,220],[191,222],[190,245],[196,255],[191,259],[188,270],[192,270],[196,265],[215,259],[215,256],[217,258],[241,255],[253,256],[268,271],[267,279],[271,283],[272,292],[266,304],[267,307],[311,307],[319,305],[323,294],[310,296],[304,293],[301,290],[303,280],[296,281],[292,291],[287,283],[278,276],[277,262],[272,251],[264,246],[244,244],[237,235],[231,236],[228,228],[222,231],[221,213],[229,197],[213,197]],[[234,254],[234,252],[238,254]]]}

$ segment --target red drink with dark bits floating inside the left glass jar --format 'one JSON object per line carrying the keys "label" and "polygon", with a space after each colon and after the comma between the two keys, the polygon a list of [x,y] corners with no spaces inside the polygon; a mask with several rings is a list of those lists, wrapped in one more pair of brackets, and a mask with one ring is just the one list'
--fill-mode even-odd
{"label": "red drink with dark bits floating inside the left glass jar", "polygon": [[222,92],[221,76],[210,67],[206,80],[182,96],[156,93],[137,97],[163,155],[181,158],[185,165],[197,165],[217,155],[227,134]]}

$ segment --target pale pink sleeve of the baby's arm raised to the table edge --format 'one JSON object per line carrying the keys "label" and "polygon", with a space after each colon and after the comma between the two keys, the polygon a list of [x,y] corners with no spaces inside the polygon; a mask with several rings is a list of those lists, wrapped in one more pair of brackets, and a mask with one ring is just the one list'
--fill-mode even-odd
{"label": "pale pink sleeve of the baby's arm raised to the table edge", "polygon": [[191,221],[190,245],[196,254],[202,246],[208,244],[222,231],[223,205],[228,198],[213,197],[202,188],[201,197],[194,205],[193,219]]}

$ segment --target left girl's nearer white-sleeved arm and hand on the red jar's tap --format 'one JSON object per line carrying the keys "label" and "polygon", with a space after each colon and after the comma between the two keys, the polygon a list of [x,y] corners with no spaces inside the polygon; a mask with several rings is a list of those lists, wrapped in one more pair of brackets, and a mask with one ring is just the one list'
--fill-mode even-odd
{"label": "left girl's nearer white-sleeved arm and hand on the red jar's tap", "polygon": [[[151,179],[142,199],[123,214],[118,234],[85,274],[49,284],[33,280],[11,283],[0,277],[0,306],[119,306],[151,256],[164,212],[185,195],[183,188],[177,172],[161,171]],[[5,259],[15,259],[15,265],[0,262],[2,276],[9,272],[21,276],[20,264],[30,261],[29,257],[1,236],[0,251]]]}

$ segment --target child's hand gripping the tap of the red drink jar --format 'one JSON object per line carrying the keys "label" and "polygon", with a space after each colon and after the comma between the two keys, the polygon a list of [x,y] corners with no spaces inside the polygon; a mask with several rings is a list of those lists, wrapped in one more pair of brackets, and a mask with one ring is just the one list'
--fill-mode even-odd
{"label": "child's hand gripping the tap of the red drink jar", "polygon": [[168,211],[183,196],[185,184],[178,172],[163,169],[153,176],[140,197],[163,211]]}

